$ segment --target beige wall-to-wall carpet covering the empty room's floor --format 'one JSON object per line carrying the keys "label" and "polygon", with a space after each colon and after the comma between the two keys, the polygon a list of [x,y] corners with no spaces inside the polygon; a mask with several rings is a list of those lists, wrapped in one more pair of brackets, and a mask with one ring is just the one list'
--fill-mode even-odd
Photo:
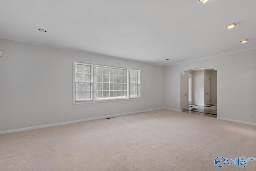
{"label": "beige wall-to-wall carpet covering the empty room's floor", "polygon": [[256,157],[256,126],[166,109],[0,135],[1,171],[214,171]]}

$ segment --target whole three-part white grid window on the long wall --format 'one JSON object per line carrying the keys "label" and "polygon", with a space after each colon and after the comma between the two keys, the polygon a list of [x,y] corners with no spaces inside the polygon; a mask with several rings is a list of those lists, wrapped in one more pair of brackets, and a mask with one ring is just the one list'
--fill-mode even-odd
{"label": "whole three-part white grid window on the long wall", "polygon": [[74,60],[73,103],[140,98],[140,70]]}

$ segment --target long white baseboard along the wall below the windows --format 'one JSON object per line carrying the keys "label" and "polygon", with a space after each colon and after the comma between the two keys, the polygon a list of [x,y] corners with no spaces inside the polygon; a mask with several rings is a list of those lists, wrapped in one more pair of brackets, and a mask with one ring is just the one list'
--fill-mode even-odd
{"label": "long white baseboard along the wall below the windows", "polygon": [[34,127],[25,127],[25,128],[20,128],[20,129],[11,129],[11,130],[6,130],[6,131],[0,131],[0,134],[20,132],[20,131],[27,131],[27,130],[31,130],[31,129],[40,129],[40,128],[46,128],[46,127],[54,127],[54,126],[58,126],[58,125],[66,125],[66,124],[76,123],[76,122],[91,121],[91,120],[95,120],[95,119],[105,119],[105,118],[108,118],[108,117],[121,116],[121,115],[129,115],[129,114],[141,113],[141,112],[146,112],[146,111],[154,111],[154,110],[159,110],[159,109],[164,109],[164,107],[157,108],[157,109],[134,111],[134,112],[128,112],[128,113],[120,113],[120,114],[115,114],[115,115],[93,117],[93,118],[88,118],[88,119],[80,119],[80,120],[75,120],[75,121],[66,121],[66,122],[60,122],[60,123],[52,123],[52,124],[39,125],[39,126],[34,126]]}

